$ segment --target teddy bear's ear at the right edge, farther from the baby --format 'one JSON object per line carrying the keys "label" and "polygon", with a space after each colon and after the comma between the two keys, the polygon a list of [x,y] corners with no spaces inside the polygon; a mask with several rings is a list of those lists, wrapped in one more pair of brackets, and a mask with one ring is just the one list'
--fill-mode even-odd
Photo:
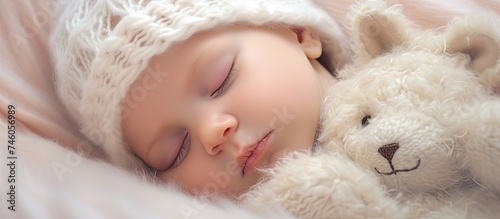
{"label": "teddy bear's ear at the right edge, farther from the baby", "polygon": [[[493,13],[454,20],[446,29],[444,41],[446,53],[468,55],[469,67],[479,75],[485,73],[486,69],[500,65],[500,19]],[[496,82],[500,82],[499,74],[494,74]]]}

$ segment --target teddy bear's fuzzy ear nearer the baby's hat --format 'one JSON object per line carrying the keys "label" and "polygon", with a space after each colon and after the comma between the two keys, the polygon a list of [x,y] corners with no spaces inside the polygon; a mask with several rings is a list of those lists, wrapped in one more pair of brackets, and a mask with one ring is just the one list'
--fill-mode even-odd
{"label": "teddy bear's fuzzy ear nearer the baby's hat", "polygon": [[365,1],[354,6],[350,15],[355,50],[360,61],[389,53],[412,37],[413,24],[403,16],[400,7],[387,8],[385,1]]}

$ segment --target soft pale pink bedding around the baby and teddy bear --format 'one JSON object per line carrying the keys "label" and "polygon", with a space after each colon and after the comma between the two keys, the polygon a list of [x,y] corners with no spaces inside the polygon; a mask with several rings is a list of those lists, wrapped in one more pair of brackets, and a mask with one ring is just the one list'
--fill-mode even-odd
{"label": "soft pale pink bedding around the baby and teddy bear", "polygon": [[[346,23],[352,0],[316,1]],[[55,94],[47,45],[65,2],[4,1],[0,7],[0,218],[258,218],[229,201],[197,200],[113,167],[83,138]],[[496,0],[390,2],[402,3],[425,27],[500,10]],[[261,217],[289,216],[271,210]]]}

